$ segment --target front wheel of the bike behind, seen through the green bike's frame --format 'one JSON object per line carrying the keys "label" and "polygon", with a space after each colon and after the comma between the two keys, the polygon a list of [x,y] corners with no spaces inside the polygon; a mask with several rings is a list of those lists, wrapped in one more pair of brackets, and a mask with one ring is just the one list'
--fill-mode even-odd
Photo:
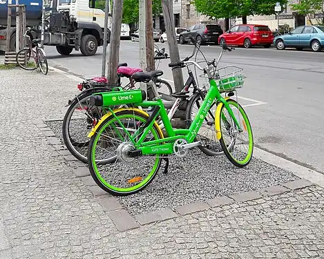
{"label": "front wheel of the bike behind, seen through the green bike's frame", "polygon": [[[193,119],[196,117],[198,110],[202,104],[202,100],[204,99],[204,93],[195,93],[188,104],[188,108],[186,111],[187,122],[191,124]],[[205,153],[206,155],[220,155],[223,152],[222,146],[220,146],[219,140],[216,138],[216,129],[215,129],[215,111],[216,111],[216,103],[213,102],[211,107],[209,108],[209,112],[202,122],[202,126],[198,131],[198,135],[196,137],[197,141],[200,140],[202,142],[201,146],[198,146],[200,151]],[[189,125],[190,125],[189,124]],[[189,127],[189,126],[188,126]]]}

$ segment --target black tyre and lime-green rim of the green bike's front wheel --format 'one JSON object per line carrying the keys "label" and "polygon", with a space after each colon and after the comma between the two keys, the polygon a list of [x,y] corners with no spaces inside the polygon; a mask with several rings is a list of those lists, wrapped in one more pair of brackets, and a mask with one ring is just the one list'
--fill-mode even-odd
{"label": "black tyre and lime-green rim of the green bike's front wheel", "polygon": [[[245,128],[246,131],[248,131],[248,135],[249,135],[249,148],[248,148],[248,153],[247,153],[247,157],[245,157],[244,160],[239,161],[237,160],[232,154],[231,151],[229,151],[229,149],[233,150],[236,146],[236,140],[234,140],[234,145],[227,145],[225,143],[224,140],[224,133],[222,133],[222,136],[220,137],[220,145],[222,146],[222,149],[226,155],[226,157],[228,158],[228,160],[234,164],[235,166],[238,166],[240,168],[247,166],[247,164],[249,164],[249,162],[251,162],[252,159],[252,155],[253,155],[253,149],[254,149],[254,140],[253,140],[253,133],[252,133],[252,127],[251,124],[249,122],[249,118],[247,117],[247,113],[245,113],[244,109],[242,108],[242,106],[240,106],[240,104],[238,104],[238,102],[236,102],[234,99],[227,99],[226,102],[229,105],[234,105],[234,107],[238,108],[238,111],[240,111],[240,114],[242,115],[242,121],[244,122],[243,124],[243,128]],[[222,105],[222,108],[220,110],[220,116],[222,116],[222,113],[224,111],[225,106],[223,104],[218,104],[218,105]],[[225,108],[226,110],[226,108]],[[227,111],[227,110],[226,110]],[[236,113],[234,112],[234,115]],[[221,118],[220,118],[221,119]],[[236,117],[236,119],[238,119]],[[238,119],[238,121],[240,122],[240,119]],[[227,122],[228,123],[228,122]],[[234,123],[234,122],[233,122]],[[221,124],[220,124],[221,125]],[[236,126],[236,124],[234,124]],[[222,132],[222,126],[220,126],[220,130]],[[227,130],[228,131],[228,130]],[[233,128],[230,128],[230,135],[232,134],[232,132],[235,132],[235,128],[233,131]],[[231,137],[231,136],[230,136]],[[228,148],[229,146],[231,146],[230,148]]]}

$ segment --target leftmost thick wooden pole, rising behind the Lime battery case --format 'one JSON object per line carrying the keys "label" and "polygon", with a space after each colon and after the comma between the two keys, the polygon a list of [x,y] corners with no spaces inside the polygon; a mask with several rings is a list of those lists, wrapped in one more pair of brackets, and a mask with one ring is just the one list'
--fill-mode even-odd
{"label": "leftmost thick wooden pole, rising behind the Lime battery case", "polygon": [[108,81],[117,82],[117,66],[120,60],[120,30],[122,28],[122,12],[124,0],[114,1],[113,25],[111,26],[111,42],[108,56]]}

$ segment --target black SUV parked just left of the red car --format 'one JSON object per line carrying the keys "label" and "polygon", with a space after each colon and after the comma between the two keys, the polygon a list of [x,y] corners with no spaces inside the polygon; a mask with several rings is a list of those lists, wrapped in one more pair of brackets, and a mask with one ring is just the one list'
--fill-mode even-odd
{"label": "black SUV parked just left of the red car", "polygon": [[185,44],[187,41],[190,41],[190,35],[200,44],[206,42],[214,42],[218,44],[218,37],[222,35],[222,28],[216,24],[197,23],[196,25],[191,26],[189,30],[180,33],[179,43]]}

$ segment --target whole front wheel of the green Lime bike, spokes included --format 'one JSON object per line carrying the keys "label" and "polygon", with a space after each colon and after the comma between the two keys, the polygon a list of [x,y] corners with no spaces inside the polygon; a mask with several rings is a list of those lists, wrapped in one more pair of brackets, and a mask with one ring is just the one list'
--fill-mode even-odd
{"label": "whole front wheel of the green Lime bike, spokes included", "polygon": [[236,126],[233,117],[223,104],[220,110],[220,145],[229,161],[238,167],[244,167],[251,162],[254,140],[251,124],[244,109],[234,99],[227,99],[227,104],[234,113],[241,130]]}

